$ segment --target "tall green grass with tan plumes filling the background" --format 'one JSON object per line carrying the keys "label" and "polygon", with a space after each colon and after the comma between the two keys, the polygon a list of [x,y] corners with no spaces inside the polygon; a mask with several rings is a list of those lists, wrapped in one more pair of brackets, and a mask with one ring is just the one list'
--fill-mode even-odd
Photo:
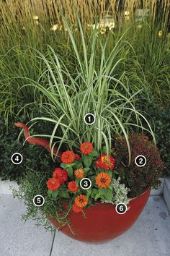
{"label": "tall green grass with tan plumes filling the background", "polygon": [[[45,71],[45,63],[35,48],[48,58],[48,45],[63,56],[69,72],[73,74],[77,64],[71,39],[61,13],[69,23],[79,42],[83,55],[81,35],[77,16],[81,21],[86,43],[89,41],[89,25],[99,22],[106,15],[112,15],[115,28],[107,43],[106,54],[112,51],[116,41],[125,33],[124,40],[130,43],[129,50],[122,48],[117,59],[122,59],[117,74],[122,74],[132,92],[143,89],[149,100],[167,106],[170,98],[168,22],[169,1],[19,1],[0,0],[0,114],[8,124],[9,116],[14,116],[17,106],[35,104],[35,91],[23,87],[31,80],[38,80]],[[138,17],[138,9],[149,9],[147,17]],[[126,15],[125,15],[126,12]],[[54,30],[54,25],[57,29]],[[161,33],[160,33],[161,31]],[[102,40],[108,38],[102,34]],[[89,52],[91,51],[89,47]],[[87,53],[88,54],[88,53]],[[100,52],[96,55],[100,59]],[[115,63],[117,61],[115,58]],[[48,81],[42,81],[44,87]],[[22,90],[20,90],[22,88]],[[39,101],[40,100],[40,101]],[[24,108],[25,110],[26,108]],[[30,115],[29,111],[27,112]]]}

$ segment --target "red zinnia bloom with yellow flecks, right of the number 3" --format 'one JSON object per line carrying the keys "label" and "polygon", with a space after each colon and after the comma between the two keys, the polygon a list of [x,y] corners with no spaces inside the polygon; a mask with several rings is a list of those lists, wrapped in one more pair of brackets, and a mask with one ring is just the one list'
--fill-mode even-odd
{"label": "red zinnia bloom with yellow flecks, right of the number 3", "polygon": [[102,153],[102,155],[97,158],[97,162],[95,163],[95,165],[97,166],[97,168],[103,168],[104,170],[109,171],[109,169],[113,170],[114,163],[115,158],[113,158],[112,155],[109,155],[109,159],[107,159],[107,154]]}

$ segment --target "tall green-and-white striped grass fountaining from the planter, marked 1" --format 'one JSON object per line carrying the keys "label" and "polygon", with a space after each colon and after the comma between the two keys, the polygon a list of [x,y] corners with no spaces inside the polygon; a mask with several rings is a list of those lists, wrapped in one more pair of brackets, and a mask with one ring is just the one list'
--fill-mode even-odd
{"label": "tall green-and-white striped grass fountaining from the planter, marked 1", "polygon": [[[107,54],[107,40],[97,33],[97,28],[91,30],[89,42],[84,38],[84,31],[79,20],[81,43],[78,45],[72,30],[63,17],[72,44],[73,56],[76,58],[74,72],[69,72],[66,63],[60,54],[56,54],[49,46],[48,59],[37,51],[45,62],[46,69],[40,74],[37,82],[30,82],[24,87],[34,87],[35,95],[40,93],[45,101],[41,103],[45,117],[35,117],[32,121],[53,122],[52,135],[37,135],[50,137],[50,147],[57,143],[58,150],[64,143],[70,149],[79,148],[81,142],[93,143],[94,148],[101,152],[105,145],[107,153],[112,148],[115,134],[125,136],[130,161],[130,145],[128,132],[131,128],[146,130],[154,135],[146,118],[135,109],[135,96],[140,93],[130,93],[129,86],[123,84],[122,74],[117,74],[117,66],[123,61],[117,59],[118,54],[125,48],[128,51],[130,44],[124,41],[123,36],[117,39],[112,51]],[[127,46],[128,45],[128,46]],[[80,54],[80,51],[83,54]],[[96,58],[97,52],[100,57]],[[96,61],[96,59],[98,61]],[[48,78],[46,87],[41,83],[42,77]],[[60,115],[58,115],[58,110]],[[92,113],[96,121],[91,126],[85,124],[84,116]],[[135,120],[135,121],[133,121]],[[148,129],[143,127],[143,122]],[[62,129],[62,136],[58,136],[58,127]],[[58,140],[58,142],[56,142]]]}

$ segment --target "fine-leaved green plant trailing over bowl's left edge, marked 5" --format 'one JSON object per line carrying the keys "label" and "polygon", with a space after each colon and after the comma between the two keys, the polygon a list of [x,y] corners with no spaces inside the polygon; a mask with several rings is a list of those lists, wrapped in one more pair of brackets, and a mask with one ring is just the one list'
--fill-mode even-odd
{"label": "fine-leaved green plant trailing over bowl's left edge, marked 5", "polygon": [[[26,213],[22,214],[22,220],[27,221],[33,218],[37,226],[44,226],[49,231],[55,229],[50,225],[48,218],[58,217],[61,226],[68,222],[67,218],[61,218],[61,213],[67,216],[68,211],[62,211],[60,200],[54,200],[48,197],[46,182],[50,176],[51,170],[45,168],[44,172],[39,169],[27,169],[27,174],[19,181],[19,189],[12,188],[14,197],[24,201]],[[37,208],[32,200],[35,195],[42,195],[45,198],[45,204],[41,208]]]}

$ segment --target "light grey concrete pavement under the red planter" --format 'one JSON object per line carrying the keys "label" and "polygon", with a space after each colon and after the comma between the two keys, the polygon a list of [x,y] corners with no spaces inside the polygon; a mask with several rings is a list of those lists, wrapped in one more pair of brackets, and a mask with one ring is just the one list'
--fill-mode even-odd
{"label": "light grey concrete pavement under the red planter", "polygon": [[161,196],[149,197],[138,221],[105,244],[86,244],[20,220],[24,205],[0,196],[0,256],[170,256],[170,216]]}

